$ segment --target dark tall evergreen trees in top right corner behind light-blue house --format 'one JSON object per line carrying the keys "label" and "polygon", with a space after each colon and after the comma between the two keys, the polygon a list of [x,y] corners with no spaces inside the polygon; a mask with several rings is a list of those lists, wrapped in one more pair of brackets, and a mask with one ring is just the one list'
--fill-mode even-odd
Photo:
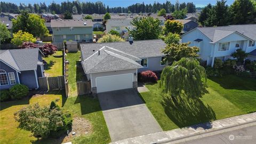
{"label": "dark tall evergreen trees in top right corner behind light-blue house", "polygon": [[236,0],[228,6],[227,1],[217,1],[202,9],[198,21],[202,26],[227,26],[256,23],[256,1]]}

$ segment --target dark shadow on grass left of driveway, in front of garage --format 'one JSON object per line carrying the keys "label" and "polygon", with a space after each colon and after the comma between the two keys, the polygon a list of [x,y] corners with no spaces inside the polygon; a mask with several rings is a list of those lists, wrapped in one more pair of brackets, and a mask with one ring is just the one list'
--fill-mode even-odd
{"label": "dark shadow on grass left of driveway, in front of garage", "polygon": [[81,115],[101,111],[99,100],[89,94],[78,95],[74,104],[76,103],[80,103]]}

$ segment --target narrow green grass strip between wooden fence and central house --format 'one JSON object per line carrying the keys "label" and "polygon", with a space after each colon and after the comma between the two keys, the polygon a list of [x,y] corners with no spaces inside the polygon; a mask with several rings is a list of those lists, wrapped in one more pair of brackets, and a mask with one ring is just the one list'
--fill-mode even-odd
{"label": "narrow green grass strip between wooden fence and central house", "polygon": [[67,60],[69,61],[68,64],[68,88],[69,88],[69,95],[76,96],[76,82],[83,80],[83,68],[81,65],[80,60],[81,52],[78,51],[76,53],[67,53]]}

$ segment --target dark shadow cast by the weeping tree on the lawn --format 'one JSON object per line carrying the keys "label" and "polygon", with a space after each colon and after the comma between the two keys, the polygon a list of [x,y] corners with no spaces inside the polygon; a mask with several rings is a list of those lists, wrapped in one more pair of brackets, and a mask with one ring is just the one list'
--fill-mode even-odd
{"label": "dark shadow cast by the weeping tree on the lawn", "polygon": [[179,127],[211,129],[210,121],[216,119],[213,109],[209,105],[205,106],[199,98],[182,97],[177,105],[172,103],[171,98],[164,98],[161,104],[164,107],[165,114]]}

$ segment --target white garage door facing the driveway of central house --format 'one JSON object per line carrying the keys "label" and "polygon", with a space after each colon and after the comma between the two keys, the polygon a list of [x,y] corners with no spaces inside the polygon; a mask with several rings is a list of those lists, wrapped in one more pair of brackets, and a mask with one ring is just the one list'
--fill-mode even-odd
{"label": "white garage door facing the driveway of central house", "polygon": [[96,77],[97,92],[107,92],[132,88],[133,74]]}

